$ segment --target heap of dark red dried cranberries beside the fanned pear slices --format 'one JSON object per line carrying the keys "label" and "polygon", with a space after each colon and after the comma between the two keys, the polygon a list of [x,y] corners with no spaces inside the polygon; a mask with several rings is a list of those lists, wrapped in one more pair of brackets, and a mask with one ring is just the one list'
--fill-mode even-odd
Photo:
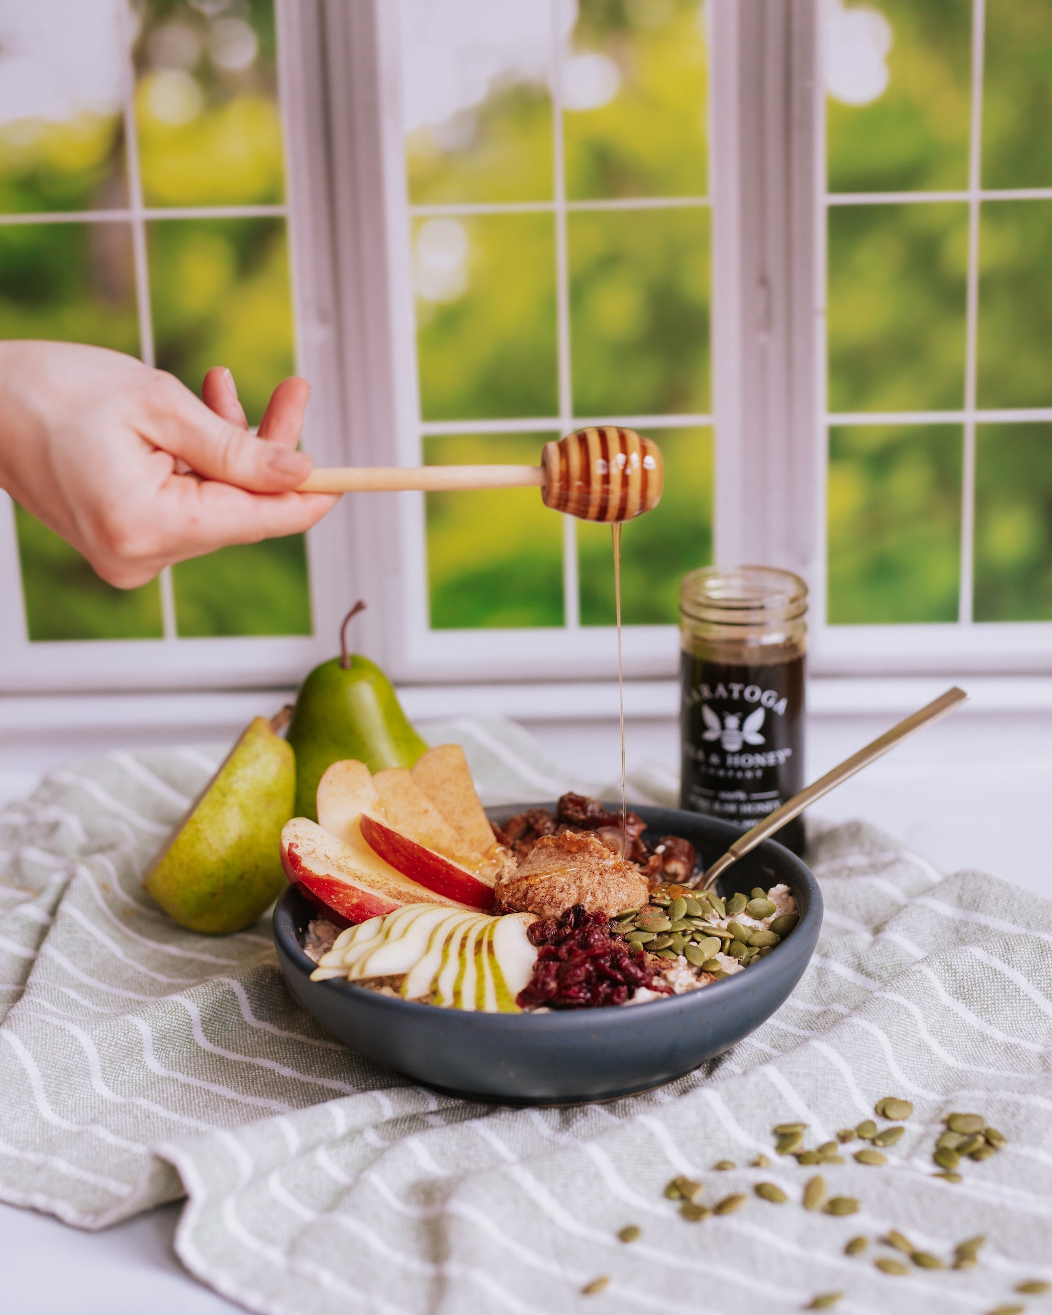
{"label": "heap of dark red dried cranberries beside the fanned pear slices", "polygon": [[521,1009],[596,1009],[623,1005],[646,986],[663,995],[672,988],[656,978],[642,949],[630,952],[614,940],[605,913],[573,905],[560,918],[542,918],[526,935],[538,947],[529,986],[519,992]]}

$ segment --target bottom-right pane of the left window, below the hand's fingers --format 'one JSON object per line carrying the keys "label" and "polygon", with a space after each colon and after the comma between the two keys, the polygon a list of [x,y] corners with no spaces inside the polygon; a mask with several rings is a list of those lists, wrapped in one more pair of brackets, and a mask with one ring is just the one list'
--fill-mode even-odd
{"label": "bottom-right pane of the left window, below the hand's fingers", "polygon": [[180,638],[310,634],[301,534],[181,562],[172,567],[172,584]]}

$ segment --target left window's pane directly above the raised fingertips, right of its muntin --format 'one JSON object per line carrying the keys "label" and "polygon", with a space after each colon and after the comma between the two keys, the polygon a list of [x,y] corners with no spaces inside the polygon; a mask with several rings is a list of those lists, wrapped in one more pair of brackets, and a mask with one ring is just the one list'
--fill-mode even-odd
{"label": "left window's pane directly above the raised fingertips, right of its muntin", "polygon": [[160,220],[147,238],[158,366],[195,392],[227,366],[259,423],[295,368],[284,220]]}

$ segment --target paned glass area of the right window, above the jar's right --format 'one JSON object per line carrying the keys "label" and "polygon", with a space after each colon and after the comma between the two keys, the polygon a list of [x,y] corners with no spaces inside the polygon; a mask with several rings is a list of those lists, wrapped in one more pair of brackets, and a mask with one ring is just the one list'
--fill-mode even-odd
{"label": "paned glass area of the right window, above the jar's right", "polygon": [[992,655],[1007,635],[973,622],[1052,619],[1047,9],[826,0],[823,21],[826,618],[956,622]]}

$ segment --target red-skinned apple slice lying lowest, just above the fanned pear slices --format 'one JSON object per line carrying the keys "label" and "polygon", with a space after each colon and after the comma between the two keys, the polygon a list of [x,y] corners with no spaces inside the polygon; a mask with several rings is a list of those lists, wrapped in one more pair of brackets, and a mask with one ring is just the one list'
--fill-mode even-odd
{"label": "red-skinned apple slice lying lowest, just above the fanned pear slices", "polygon": [[364,922],[410,903],[464,907],[384,863],[358,827],[346,840],[338,840],[317,823],[293,818],[281,831],[281,865],[289,881],[350,922]]}

